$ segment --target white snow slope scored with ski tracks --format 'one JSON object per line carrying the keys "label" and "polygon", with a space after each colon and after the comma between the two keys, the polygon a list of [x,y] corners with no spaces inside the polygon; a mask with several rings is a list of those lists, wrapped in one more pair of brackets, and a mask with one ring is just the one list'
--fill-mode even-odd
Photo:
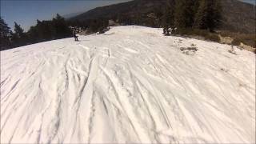
{"label": "white snow slope scored with ski tracks", "polygon": [[253,53],[142,26],[79,39],[1,51],[2,143],[255,142]]}

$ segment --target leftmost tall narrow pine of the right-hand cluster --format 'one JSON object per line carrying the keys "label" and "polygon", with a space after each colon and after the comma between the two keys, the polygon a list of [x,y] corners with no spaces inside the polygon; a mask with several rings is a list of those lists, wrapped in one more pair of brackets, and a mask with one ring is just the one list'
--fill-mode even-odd
{"label": "leftmost tall narrow pine of the right-hand cluster", "polygon": [[[174,2],[174,1],[173,1]],[[170,28],[174,26],[174,9],[170,0],[166,0],[166,9],[163,15],[163,34],[170,35]]]}

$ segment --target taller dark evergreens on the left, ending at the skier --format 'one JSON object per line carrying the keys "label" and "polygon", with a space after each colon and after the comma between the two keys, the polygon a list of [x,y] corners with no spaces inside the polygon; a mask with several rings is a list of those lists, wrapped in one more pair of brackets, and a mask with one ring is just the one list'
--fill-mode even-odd
{"label": "taller dark evergreens on the left, ending at the skier", "polygon": [[59,14],[52,20],[37,20],[37,24],[31,26],[27,32],[17,22],[14,22],[14,32],[11,31],[10,27],[0,17],[1,50],[71,36],[72,30],[69,28],[66,20]]}

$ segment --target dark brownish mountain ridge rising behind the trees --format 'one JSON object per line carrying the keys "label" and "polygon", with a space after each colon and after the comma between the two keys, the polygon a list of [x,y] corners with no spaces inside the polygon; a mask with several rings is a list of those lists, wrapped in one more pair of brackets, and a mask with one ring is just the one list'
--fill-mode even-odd
{"label": "dark brownish mountain ridge rising behind the trees", "polygon": [[[255,6],[238,0],[222,0],[222,26],[219,30],[230,30],[232,32],[254,34],[255,33]],[[78,14],[70,20],[88,19],[118,19],[118,17],[135,18],[139,15],[144,22],[143,26],[156,25],[147,20],[150,14],[163,11],[166,0],[134,0],[122,2],[110,6],[102,6]]]}

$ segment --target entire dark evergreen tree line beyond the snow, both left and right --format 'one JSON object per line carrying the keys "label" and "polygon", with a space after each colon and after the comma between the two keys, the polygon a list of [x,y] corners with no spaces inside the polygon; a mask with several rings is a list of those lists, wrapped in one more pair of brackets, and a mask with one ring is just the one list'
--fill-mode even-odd
{"label": "entire dark evergreen tree line beyond the snow, both left and right", "polygon": [[[117,14],[116,18],[112,19],[121,25],[161,26],[166,35],[170,35],[170,30],[175,30],[177,33],[182,30],[214,32],[221,22],[221,10],[220,0],[166,0],[165,9],[155,8],[151,15]],[[82,28],[90,34],[104,31],[107,26],[106,18],[66,21],[57,14],[51,20],[37,20],[37,24],[31,26],[27,32],[14,22],[14,32],[12,32],[0,17],[0,46],[1,50],[6,50],[37,42],[69,38],[72,36],[70,27]]]}

